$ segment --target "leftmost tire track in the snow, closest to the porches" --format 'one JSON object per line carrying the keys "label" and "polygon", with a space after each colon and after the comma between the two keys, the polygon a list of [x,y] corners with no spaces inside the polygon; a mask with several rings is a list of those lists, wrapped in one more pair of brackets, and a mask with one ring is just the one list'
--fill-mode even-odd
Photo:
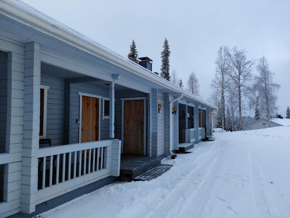
{"label": "leftmost tire track in the snow, closest to the porches", "polygon": [[[215,162],[217,157],[222,156],[224,148],[220,147],[217,151],[211,154],[204,162],[202,162],[199,166],[200,169],[193,169],[190,174],[184,178],[184,180],[179,183],[177,187],[175,187],[172,192],[166,197],[165,201],[162,201],[158,206],[157,210],[151,211],[146,217],[150,218],[159,218],[164,217],[168,210],[172,208],[172,206],[184,195],[184,193],[188,190],[190,185],[195,181],[195,179],[201,174],[204,169]],[[212,167],[210,168],[212,170]]]}

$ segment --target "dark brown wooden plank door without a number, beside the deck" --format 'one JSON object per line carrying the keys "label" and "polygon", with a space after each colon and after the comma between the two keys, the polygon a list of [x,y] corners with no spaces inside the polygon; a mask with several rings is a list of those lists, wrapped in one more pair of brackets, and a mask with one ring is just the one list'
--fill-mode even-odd
{"label": "dark brown wooden plank door without a number, beside the deck", "polygon": [[144,100],[124,101],[124,154],[144,154]]}

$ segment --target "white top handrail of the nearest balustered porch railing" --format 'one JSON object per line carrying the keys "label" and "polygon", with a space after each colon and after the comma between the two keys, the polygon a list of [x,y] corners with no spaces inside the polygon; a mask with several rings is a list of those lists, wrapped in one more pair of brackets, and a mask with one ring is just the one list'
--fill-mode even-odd
{"label": "white top handrail of the nearest balustered porch railing", "polygon": [[42,158],[42,157],[47,157],[51,155],[63,154],[63,153],[80,151],[80,150],[85,150],[85,149],[101,148],[101,147],[107,147],[107,146],[112,146],[112,140],[52,146],[48,148],[38,149],[36,157]]}

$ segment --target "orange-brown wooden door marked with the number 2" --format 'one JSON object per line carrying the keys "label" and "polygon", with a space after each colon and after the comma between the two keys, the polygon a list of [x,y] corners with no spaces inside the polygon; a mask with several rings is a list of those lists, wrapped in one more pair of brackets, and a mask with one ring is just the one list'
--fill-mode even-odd
{"label": "orange-brown wooden door marked with the number 2", "polygon": [[81,105],[81,142],[99,141],[99,99],[83,96]]}

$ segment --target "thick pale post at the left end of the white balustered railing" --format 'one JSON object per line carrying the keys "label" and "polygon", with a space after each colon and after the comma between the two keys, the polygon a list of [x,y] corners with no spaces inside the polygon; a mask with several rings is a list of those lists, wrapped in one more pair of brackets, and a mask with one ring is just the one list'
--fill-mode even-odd
{"label": "thick pale post at the left end of the white balustered railing", "polygon": [[[25,44],[24,62],[24,121],[22,145],[22,176],[20,212],[35,212],[37,192],[37,158],[39,147],[40,110],[39,43]],[[50,160],[52,161],[52,159]],[[45,165],[45,162],[43,162]]]}

